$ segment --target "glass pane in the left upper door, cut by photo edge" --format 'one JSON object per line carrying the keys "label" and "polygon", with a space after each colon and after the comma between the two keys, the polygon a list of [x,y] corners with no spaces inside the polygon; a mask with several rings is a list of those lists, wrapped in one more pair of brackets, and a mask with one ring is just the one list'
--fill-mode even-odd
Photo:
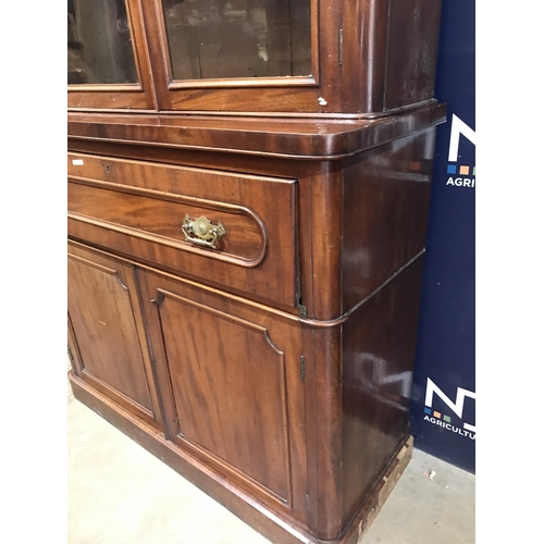
{"label": "glass pane in the left upper door, cut by photo edge", "polygon": [[125,0],[69,0],[67,83],[137,83]]}

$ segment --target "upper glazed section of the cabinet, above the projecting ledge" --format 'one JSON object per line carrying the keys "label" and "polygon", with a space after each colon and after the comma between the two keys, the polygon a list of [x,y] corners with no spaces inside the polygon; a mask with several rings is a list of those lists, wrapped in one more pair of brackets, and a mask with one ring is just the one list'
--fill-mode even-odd
{"label": "upper glazed section of the cabinet, above the projecting ledge", "polygon": [[119,0],[91,21],[87,0],[71,0],[67,107],[398,113],[434,97],[441,3]]}

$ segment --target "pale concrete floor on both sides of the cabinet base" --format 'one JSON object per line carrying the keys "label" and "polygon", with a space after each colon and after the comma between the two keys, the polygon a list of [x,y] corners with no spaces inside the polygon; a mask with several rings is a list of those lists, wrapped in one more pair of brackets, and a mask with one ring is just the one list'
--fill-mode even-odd
{"label": "pale concrete floor on both sides of the cabinet base", "polygon": [[[69,544],[269,543],[70,387],[67,418]],[[474,508],[472,474],[415,450],[362,544],[472,544]]]}

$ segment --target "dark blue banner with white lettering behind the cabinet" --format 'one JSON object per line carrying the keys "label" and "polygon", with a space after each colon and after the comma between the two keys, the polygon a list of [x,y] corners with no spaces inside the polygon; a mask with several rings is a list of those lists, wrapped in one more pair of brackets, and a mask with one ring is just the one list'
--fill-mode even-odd
{"label": "dark blue banner with white lettering behind the cabinet", "polygon": [[475,472],[475,0],[443,0],[436,133],[410,410],[415,446]]}

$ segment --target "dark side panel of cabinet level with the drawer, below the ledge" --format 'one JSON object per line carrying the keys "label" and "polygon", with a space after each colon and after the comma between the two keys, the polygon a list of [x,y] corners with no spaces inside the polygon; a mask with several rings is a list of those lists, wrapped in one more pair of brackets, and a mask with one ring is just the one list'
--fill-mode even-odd
{"label": "dark side panel of cabinet level with the drawer, below the ledge", "polygon": [[424,249],[434,137],[430,128],[345,162],[344,312]]}

